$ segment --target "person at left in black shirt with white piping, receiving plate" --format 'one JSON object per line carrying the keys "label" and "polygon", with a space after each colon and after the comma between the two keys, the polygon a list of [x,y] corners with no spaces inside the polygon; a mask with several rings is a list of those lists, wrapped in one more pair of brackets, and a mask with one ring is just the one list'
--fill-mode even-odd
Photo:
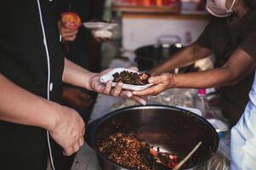
{"label": "person at left in black shirt with white piping, receiving plate", "polygon": [[[54,0],[3,1],[0,11],[1,169],[46,169],[53,139],[70,156],[84,143],[84,122],[60,105],[62,82],[106,95],[125,95],[122,83],[100,83],[94,73],[64,58]],[[54,162],[52,166],[54,168]]]}

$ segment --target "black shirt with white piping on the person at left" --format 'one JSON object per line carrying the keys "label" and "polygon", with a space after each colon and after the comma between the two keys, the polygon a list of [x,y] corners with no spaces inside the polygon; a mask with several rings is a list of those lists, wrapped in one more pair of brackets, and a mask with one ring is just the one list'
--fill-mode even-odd
{"label": "black shirt with white piping on the person at left", "polygon": [[[64,67],[57,27],[60,14],[55,14],[54,1],[38,2],[1,2],[0,73],[32,94],[45,99],[48,99],[49,94],[49,99],[59,102]],[[43,42],[43,29],[48,54]],[[1,169],[43,169],[47,158],[44,129],[0,122],[0,133]]]}

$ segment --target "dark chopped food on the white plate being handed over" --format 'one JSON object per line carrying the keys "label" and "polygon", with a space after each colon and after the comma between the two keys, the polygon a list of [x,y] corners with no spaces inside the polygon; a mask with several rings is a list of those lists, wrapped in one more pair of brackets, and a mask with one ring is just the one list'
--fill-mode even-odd
{"label": "dark chopped food on the white plate being handed over", "polygon": [[129,71],[122,71],[117,72],[113,75],[114,80],[113,82],[123,82],[125,84],[131,84],[131,85],[139,85],[144,86],[145,84],[148,84],[148,79],[151,77],[149,73],[143,72],[143,73],[137,73],[137,72],[129,72]]}

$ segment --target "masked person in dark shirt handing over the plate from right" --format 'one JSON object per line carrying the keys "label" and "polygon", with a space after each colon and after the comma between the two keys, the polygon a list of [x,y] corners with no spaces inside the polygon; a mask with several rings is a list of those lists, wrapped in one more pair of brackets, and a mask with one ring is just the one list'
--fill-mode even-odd
{"label": "masked person in dark shirt handing over the plate from right", "polygon": [[154,68],[151,74],[172,71],[209,54],[215,55],[216,68],[188,74],[164,74],[151,79],[158,86],[134,94],[158,94],[167,88],[222,87],[220,103],[224,115],[235,124],[247,105],[256,66],[256,1],[208,0],[207,3],[209,12],[219,17],[213,17],[195,43]]}

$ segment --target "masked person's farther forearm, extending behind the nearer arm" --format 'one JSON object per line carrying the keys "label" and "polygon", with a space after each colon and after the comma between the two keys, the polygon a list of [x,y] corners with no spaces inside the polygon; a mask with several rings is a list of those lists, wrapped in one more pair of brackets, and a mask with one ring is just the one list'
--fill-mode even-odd
{"label": "masked person's farther forearm, extending behind the nearer arm", "polygon": [[203,48],[197,43],[192,44],[190,47],[182,49],[174,56],[167,59],[162,65],[156,66],[151,70],[152,76],[158,76],[163,72],[173,71],[175,68],[180,68],[189,65],[198,59],[203,59],[211,54],[211,49]]}

